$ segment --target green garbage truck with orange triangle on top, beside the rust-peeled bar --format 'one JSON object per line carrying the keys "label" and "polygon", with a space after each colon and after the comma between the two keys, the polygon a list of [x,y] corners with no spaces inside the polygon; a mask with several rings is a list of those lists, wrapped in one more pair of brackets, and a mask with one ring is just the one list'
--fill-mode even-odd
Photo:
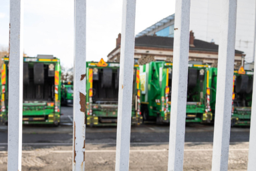
{"label": "green garbage truck with orange triangle on top, beside the rust-peeled bar", "polygon": [[[86,63],[86,124],[88,126],[112,126],[118,121],[119,63]],[[142,123],[140,112],[140,74],[134,65],[132,82],[132,124]],[[127,102],[129,105],[130,102]]]}

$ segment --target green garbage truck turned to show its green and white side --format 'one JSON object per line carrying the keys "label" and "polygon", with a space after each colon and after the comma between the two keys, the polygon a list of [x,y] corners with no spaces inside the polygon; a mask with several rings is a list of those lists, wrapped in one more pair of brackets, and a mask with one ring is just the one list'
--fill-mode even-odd
{"label": "green garbage truck turned to show its green and white side", "polygon": [[[211,122],[213,118],[207,94],[209,93],[208,68],[208,65],[188,65],[186,122]],[[169,123],[172,63],[153,61],[140,66],[140,87],[144,121]]]}

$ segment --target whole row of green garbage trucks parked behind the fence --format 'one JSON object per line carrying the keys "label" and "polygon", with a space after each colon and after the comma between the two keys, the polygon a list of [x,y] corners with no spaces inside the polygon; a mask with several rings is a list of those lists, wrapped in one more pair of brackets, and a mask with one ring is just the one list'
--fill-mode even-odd
{"label": "whole row of green garbage trucks parked behind the fence", "polygon": [[[0,120],[8,120],[8,63],[1,72]],[[112,126],[118,122],[119,63],[86,63],[86,125]],[[23,124],[59,124],[60,104],[73,104],[73,82],[60,81],[59,59],[24,58]],[[153,61],[134,65],[132,125],[170,122],[172,63]],[[186,122],[214,122],[217,68],[188,65]],[[246,126],[251,120],[253,72],[234,71],[231,126]]]}

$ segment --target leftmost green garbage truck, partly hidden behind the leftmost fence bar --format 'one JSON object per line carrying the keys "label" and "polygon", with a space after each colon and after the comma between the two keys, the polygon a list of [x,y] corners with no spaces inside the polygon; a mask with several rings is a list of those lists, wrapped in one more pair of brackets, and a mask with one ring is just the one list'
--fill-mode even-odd
{"label": "leftmost green garbage truck, partly hidden behind the leftmost fence bar", "polygon": [[[8,122],[9,58],[1,70],[1,122]],[[23,124],[59,124],[61,69],[53,55],[23,58]]]}

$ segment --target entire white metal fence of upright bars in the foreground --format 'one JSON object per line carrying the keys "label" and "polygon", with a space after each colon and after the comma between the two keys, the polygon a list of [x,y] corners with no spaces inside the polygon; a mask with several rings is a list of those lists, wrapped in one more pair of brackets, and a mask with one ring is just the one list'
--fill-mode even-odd
{"label": "entire white metal fence of upright bars in the foreground", "polygon": [[[85,170],[86,0],[75,0],[73,170]],[[136,0],[123,0],[116,171],[129,169]],[[237,0],[221,1],[217,104],[212,170],[227,170],[231,126]],[[190,0],[176,0],[168,171],[183,169]],[[23,0],[10,0],[8,170],[21,170]],[[254,79],[256,90],[256,79]],[[18,104],[18,105],[17,105]],[[253,93],[248,170],[256,170],[256,93]]]}

